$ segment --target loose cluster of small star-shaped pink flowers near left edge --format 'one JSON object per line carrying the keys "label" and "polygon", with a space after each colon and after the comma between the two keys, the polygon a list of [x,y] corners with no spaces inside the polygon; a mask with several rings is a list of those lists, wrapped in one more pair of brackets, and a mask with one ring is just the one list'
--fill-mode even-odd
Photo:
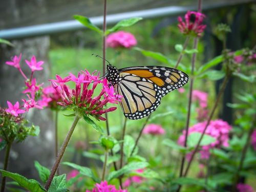
{"label": "loose cluster of small star-shaped pink flowers near left edge", "polygon": [[21,106],[23,109],[19,109],[19,102],[17,101],[14,105],[7,101],[8,109],[6,109],[6,112],[9,114],[14,115],[15,117],[18,116],[18,114],[25,113],[31,108],[37,108],[37,109],[43,109],[44,106],[48,105],[48,102],[50,99],[44,95],[41,94],[42,89],[42,83],[37,84],[36,78],[33,78],[33,73],[35,71],[40,71],[43,68],[41,67],[44,61],[36,61],[36,57],[33,55],[31,60],[25,60],[28,67],[31,70],[30,78],[28,78],[22,69],[20,68],[20,60],[22,59],[22,54],[19,56],[14,56],[11,58],[11,61],[7,61],[6,64],[9,66],[13,66],[16,69],[19,70],[19,72],[22,74],[22,76],[25,78],[25,90],[23,91],[24,94],[26,94],[27,99],[22,99],[24,104]]}

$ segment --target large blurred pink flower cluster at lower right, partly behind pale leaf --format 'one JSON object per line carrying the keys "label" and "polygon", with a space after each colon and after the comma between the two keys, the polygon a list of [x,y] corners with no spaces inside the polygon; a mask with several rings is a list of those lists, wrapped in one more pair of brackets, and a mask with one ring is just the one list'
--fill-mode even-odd
{"label": "large blurred pink flower cluster at lower right, partly behind pale leaf", "polygon": [[[189,127],[188,135],[190,135],[191,133],[194,133],[194,132],[202,133],[203,130],[205,129],[206,123],[207,122],[204,121],[204,122],[200,122],[200,123],[197,123],[197,124]],[[210,121],[210,124],[207,126],[205,134],[216,138],[216,141],[209,145],[202,146],[202,149],[200,151],[201,158],[202,159],[209,158],[209,155],[210,155],[209,149],[210,148],[220,147],[220,146],[226,146],[226,147],[229,146],[228,134],[231,129],[232,129],[232,127],[226,121],[223,121],[222,119]],[[182,135],[178,139],[178,144],[184,145],[185,135],[186,135],[186,131],[184,130],[182,132]],[[189,158],[189,154],[188,154],[187,158]]]}

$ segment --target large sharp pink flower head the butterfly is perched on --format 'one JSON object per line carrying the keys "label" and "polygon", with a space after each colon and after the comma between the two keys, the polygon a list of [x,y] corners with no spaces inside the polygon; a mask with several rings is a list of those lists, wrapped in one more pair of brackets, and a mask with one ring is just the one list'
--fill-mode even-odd
{"label": "large sharp pink flower head the butterfly is perched on", "polygon": [[[60,95],[61,100],[57,104],[70,108],[75,111],[81,109],[83,113],[91,115],[99,120],[105,120],[102,114],[116,110],[116,107],[103,109],[106,103],[118,103],[121,96],[116,95],[113,86],[109,87],[106,79],[99,80],[98,75],[91,75],[87,70],[78,72],[75,76],[72,73],[70,76],[61,78],[56,75],[56,79],[51,80],[52,87]],[[70,89],[65,83],[68,81],[75,82],[75,89]],[[92,84],[92,89],[89,89]],[[94,90],[98,84],[102,84],[103,88],[98,96],[93,97]],[[102,99],[103,97],[103,99]]]}

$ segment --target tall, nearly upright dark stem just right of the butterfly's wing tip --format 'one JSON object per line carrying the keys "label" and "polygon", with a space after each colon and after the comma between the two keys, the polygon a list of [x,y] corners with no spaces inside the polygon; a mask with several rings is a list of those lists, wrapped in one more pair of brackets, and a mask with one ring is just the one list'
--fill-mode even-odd
{"label": "tall, nearly upright dark stem just right of the butterfly's wing tip", "polygon": [[[198,43],[198,38],[196,37],[194,40],[194,46],[193,49],[197,49],[197,43]],[[188,112],[187,112],[187,120],[186,120],[186,134],[185,134],[185,142],[184,146],[187,146],[187,136],[188,136],[188,127],[189,127],[189,121],[190,121],[190,112],[191,112],[191,103],[192,103],[192,92],[193,92],[193,85],[194,85],[194,69],[195,69],[195,62],[196,62],[196,56],[197,54],[194,53],[191,61],[191,79],[190,79],[190,87],[189,87],[189,99],[188,99]],[[185,164],[185,155],[182,156],[181,160],[181,167],[180,167],[180,177],[182,177],[183,174],[183,169],[184,169],[184,164]],[[179,191],[179,190],[177,190]]]}

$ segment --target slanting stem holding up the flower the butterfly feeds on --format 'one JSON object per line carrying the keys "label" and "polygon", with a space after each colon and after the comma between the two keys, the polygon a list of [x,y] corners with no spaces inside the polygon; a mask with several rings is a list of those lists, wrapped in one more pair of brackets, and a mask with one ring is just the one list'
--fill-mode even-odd
{"label": "slanting stem holding up the flower the butterfly feeds on", "polygon": [[57,168],[59,166],[61,158],[62,158],[62,156],[63,156],[63,154],[64,154],[64,152],[66,150],[66,147],[68,146],[69,140],[70,140],[70,138],[71,138],[71,136],[72,136],[72,134],[73,134],[73,132],[75,130],[76,124],[79,121],[79,119],[80,119],[80,116],[76,115],[75,119],[74,119],[74,122],[73,122],[72,126],[70,127],[69,133],[68,133],[65,141],[62,143],[62,146],[61,146],[60,151],[58,153],[58,157],[56,158],[56,161],[55,161],[55,163],[54,163],[54,165],[52,167],[52,170],[51,170],[51,174],[50,174],[50,176],[49,176],[49,178],[48,178],[48,180],[46,182],[46,185],[45,185],[45,188],[46,188],[47,191],[48,191],[48,189],[49,189],[49,187],[50,187],[50,185],[52,183],[53,177],[54,177],[54,175],[56,173],[56,170],[57,170]]}

